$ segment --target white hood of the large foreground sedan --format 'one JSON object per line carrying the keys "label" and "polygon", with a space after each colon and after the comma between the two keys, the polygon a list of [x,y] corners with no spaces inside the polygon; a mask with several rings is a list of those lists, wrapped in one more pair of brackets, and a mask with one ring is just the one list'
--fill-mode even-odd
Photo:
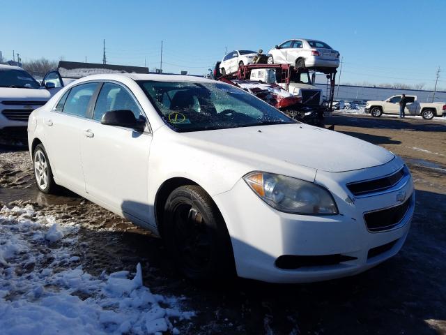
{"label": "white hood of the large foreground sedan", "polygon": [[[213,154],[263,163],[301,165],[328,172],[344,172],[383,165],[394,155],[355,137],[306,124],[284,124],[182,133],[189,144],[206,142]],[[256,163],[259,163],[256,166]],[[282,166],[279,166],[282,168]],[[273,171],[270,171],[273,172]]]}

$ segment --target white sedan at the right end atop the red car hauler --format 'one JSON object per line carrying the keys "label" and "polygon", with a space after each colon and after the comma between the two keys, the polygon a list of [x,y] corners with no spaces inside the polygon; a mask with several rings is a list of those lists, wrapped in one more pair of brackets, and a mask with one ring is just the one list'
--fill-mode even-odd
{"label": "white sedan at the right end atop the red car hauler", "polygon": [[296,68],[337,68],[339,52],[320,40],[286,40],[268,52],[268,64],[291,64]]}

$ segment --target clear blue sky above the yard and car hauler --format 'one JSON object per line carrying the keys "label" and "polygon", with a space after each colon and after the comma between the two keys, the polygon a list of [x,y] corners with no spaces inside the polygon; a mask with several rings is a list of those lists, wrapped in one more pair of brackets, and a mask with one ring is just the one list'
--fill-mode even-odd
{"label": "clear blue sky above the yard and car hauler", "polygon": [[[283,4],[283,5],[281,5]],[[446,87],[446,1],[4,1],[0,50],[206,73],[236,49],[267,52],[288,38],[323,40],[344,57],[342,82]]]}

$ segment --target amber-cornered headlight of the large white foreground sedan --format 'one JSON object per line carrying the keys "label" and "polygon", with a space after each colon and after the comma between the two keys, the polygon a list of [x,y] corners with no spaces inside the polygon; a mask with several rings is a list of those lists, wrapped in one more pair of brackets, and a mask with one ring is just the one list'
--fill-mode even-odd
{"label": "amber-cornered headlight of the large white foreground sedan", "polygon": [[243,179],[264,202],[278,211],[306,215],[338,214],[332,195],[309,181],[268,172],[251,172]]}

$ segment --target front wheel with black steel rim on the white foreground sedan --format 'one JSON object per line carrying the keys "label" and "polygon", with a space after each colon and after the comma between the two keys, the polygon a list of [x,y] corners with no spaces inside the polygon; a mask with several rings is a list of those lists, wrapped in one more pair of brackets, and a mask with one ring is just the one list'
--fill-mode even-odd
{"label": "front wheel with black steel rim on the white foreground sedan", "polygon": [[234,274],[229,232],[222,214],[200,186],[176,188],[164,205],[162,237],[177,268],[195,281]]}

